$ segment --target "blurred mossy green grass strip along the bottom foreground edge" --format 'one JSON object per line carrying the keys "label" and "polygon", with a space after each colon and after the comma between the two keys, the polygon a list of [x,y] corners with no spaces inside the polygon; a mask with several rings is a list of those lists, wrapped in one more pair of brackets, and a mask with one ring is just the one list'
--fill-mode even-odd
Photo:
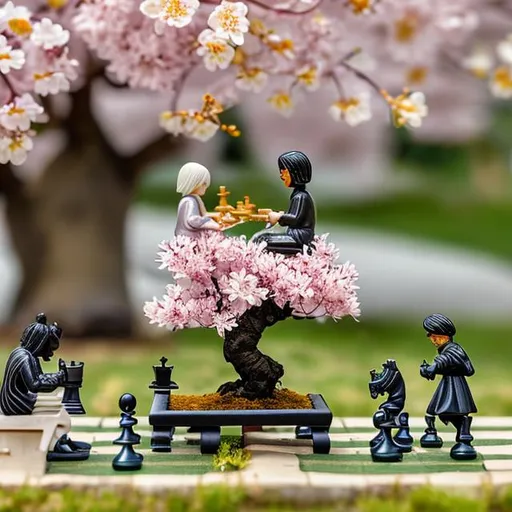
{"label": "blurred mossy green grass strip along the bottom foreground edge", "polygon": [[[382,495],[375,490],[365,496],[332,500],[327,495],[318,504],[288,500],[269,493],[248,495],[242,489],[210,486],[190,496],[142,493],[124,489],[118,493],[65,489],[55,491],[24,487],[0,489],[2,512],[511,512],[512,489],[482,492],[471,498],[431,487],[407,491],[396,487]],[[301,496],[301,495],[300,495]],[[294,503],[290,503],[293,500]],[[323,501],[323,503],[322,503]]]}

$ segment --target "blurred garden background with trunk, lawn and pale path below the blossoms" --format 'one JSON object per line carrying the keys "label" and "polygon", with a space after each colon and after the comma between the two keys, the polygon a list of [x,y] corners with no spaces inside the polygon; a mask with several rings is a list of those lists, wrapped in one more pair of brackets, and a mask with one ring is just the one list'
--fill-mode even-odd
{"label": "blurred garden background with trunk, lawn and pale path below the blossoms", "polygon": [[155,258],[173,236],[177,172],[191,160],[210,169],[210,211],[220,185],[232,204],[249,195],[282,210],[289,190],[277,157],[298,149],[313,163],[318,233],[359,269],[362,316],[267,330],[261,349],[284,365],[283,385],[323,394],[336,415],[371,415],[369,370],[393,358],[406,409],[423,415],[435,383],[419,365],[435,349],[422,321],[441,312],[476,368],[479,412],[512,415],[512,107],[476,80],[446,80],[422,89],[430,113],[416,131],[393,128],[385,114],[355,128],[335,123],[320,91],[291,119],[249,98],[223,118],[242,137],[207,143],[163,136],[156,119],[166,102],[149,93],[96,80],[62,98],[60,121],[37,137],[27,163],[0,172],[0,367],[43,311],[64,328],[57,356],[85,361],[89,414],[116,415],[119,396],[132,392],[146,415],[151,366],[163,355],[180,393],[234,379],[214,330],[170,333],[142,313],[169,279]]}

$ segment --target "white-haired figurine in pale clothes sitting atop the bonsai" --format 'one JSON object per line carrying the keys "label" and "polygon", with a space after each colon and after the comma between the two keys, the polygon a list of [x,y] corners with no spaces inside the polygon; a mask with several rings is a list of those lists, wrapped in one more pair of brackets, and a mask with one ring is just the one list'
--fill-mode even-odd
{"label": "white-haired figurine in pale clothes sitting atop the bonsai", "polygon": [[221,231],[221,226],[207,216],[201,196],[210,186],[210,172],[201,164],[188,162],[178,174],[176,192],[182,194],[174,235],[197,238],[205,229]]}

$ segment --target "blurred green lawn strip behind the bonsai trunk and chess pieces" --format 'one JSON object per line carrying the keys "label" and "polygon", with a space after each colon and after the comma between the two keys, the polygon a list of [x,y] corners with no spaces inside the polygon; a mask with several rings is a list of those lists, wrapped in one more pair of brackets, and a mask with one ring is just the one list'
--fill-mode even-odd
{"label": "blurred green lawn strip behind the bonsai trunk and chess pieces", "polygon": [[[468,382],[479,414],[512,415],[512,324],[473,325],[458,319],[457,329],[457,340],[476,369]],[[370,398],[369,370],[380,368],[388,358],[397,360],[405,378],[406,410],[411,415],[424,415],[437,385],[437,381],[419,376],[423,359],[431,361],[436,355],[421,323],[358,323],[345,319],[320,324],[287,320],[268,329],[259,348],[284,365],[285,387],[322,394],[337,416],[371,417],[380,400]],[[0,368],[7,355],[4,344],[0,348]],[[175,366],[173,380],[180,386],[178,393],[210,393],[237,378],[232,366],[224,361],[222,339],[207,329],[181,331],[159,342],[68,341],[58,355],[85,361],[81,396],[90,416],[117,416],[117,402],[126,392],[137,397],[137,413],[147,415],[152,399],[148,388],[154,378],[152,365],[158,365],[163,355]],[[55,371],[56,362],[45,368]]]}

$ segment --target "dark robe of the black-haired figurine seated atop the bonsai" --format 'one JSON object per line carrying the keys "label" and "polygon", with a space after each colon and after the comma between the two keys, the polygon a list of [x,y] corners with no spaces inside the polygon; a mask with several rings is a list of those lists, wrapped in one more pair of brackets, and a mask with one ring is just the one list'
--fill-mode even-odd
{"label": "dark robe of the black-haired figurine seated atop the bonsai", "polygon": [[267,242],[267,250],[296,253],[309,245],[315,237],[315,202],[304,185],[294,188],[288,210],[279,219],[281,226],[288,226],[285,234],[262,233],[255,242]]}

